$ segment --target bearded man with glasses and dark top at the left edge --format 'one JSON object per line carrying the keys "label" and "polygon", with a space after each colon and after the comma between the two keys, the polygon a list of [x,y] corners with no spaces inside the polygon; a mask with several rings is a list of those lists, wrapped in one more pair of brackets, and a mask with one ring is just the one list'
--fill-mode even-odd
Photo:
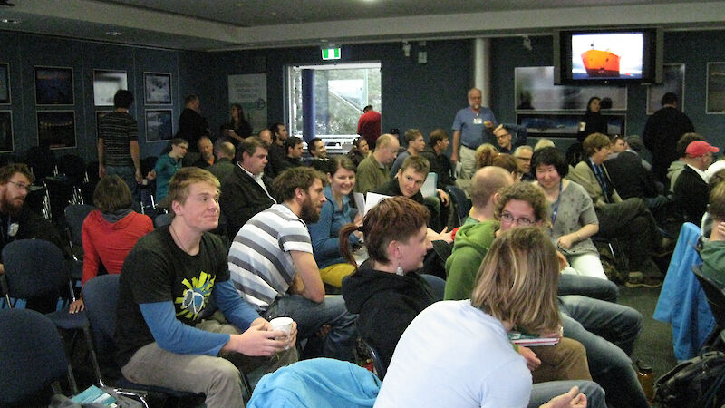
{"label": "bearded man with glasses and dark top at the left edge", "polygon": [[[24,206],[33,180],[33,173],[23,163],[0,168],[0,249],[15,239],[44,239],[61,248],[61,238],[53,224]],[[4,272],[0,263],[0,274]],[[31,297],[25,307],[43,313],[53,312],[58,293]]]}

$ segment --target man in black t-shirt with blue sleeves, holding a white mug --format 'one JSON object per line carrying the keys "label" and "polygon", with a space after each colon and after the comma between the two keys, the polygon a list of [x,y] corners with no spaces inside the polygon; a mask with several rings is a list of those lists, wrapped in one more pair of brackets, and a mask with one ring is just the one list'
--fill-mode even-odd
{"label": "man in black t-shirt with blue sleeves, holding a white mug", "polygon": [[[218,226],[218,197],[207,170],[183,168],[171,179],[171,224],[140,238],[121,269],[116,356],[135,383],[243,406],[238,370],[254,379],[294,363],[296,325],[290,335],[273,331],[238,296],[226,249],[208,233]],[[205,320],[212,300],[219,311]]]}

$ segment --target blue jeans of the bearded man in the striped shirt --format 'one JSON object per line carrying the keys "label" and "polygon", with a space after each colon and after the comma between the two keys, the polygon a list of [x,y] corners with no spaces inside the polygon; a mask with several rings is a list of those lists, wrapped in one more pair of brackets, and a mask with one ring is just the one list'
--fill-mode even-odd
{"label": "blue jeans of the bearded man in the striped shirt", "polygon": [[332,328],[324,338],[325,357],[354,361],[353,348],[357,329],[357,315],[347,311],[343,296],[325,296],[322,303],[314,303],[300,295],[277,297],[266,309],[265,318],[292,317],[297,322],[297,339],[308,338],[322,327]]}

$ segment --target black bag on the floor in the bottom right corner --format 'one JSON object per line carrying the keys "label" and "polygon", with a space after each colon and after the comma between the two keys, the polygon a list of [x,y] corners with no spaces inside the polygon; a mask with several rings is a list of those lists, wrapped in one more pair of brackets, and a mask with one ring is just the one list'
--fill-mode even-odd
{"label": "black bag on the floor in the bottom right corner", "polygon": [[725,353],[711,351],[677,364],[654,384],[662,407],[720,407],[725,404]]}

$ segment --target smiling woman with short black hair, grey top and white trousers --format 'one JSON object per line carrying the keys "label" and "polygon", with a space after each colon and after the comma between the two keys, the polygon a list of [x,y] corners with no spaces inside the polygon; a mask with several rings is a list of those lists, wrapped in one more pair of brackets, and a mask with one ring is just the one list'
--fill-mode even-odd
{"label": "smiling woman with short black hair, grey top and white trousers", "polygon": [[582,186],[564,179],[569,171],[564,153],[551,147],[536,151],[531,168],[548,202],[549,231],[556,247],[579,274],[606,279],[590,238],[599,231],[594,204]]}

